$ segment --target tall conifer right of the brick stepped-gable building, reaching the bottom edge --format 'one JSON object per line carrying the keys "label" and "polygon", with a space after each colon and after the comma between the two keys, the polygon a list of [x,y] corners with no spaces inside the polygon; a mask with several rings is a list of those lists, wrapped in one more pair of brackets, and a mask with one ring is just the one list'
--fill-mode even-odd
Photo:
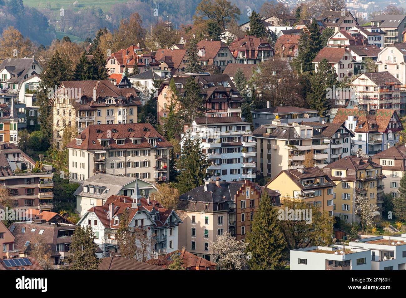
{"label": "tall conifer right of the brick stepped-gable building, reaching the bottom edge", "polygon": [[251,252],[249,266],[254,270],[280,270],[285,266],[283,250],[285,239],[279,228],[278,210],[272,206],[266,191],[261,195],[257,212],[246,238],[247,251]]}

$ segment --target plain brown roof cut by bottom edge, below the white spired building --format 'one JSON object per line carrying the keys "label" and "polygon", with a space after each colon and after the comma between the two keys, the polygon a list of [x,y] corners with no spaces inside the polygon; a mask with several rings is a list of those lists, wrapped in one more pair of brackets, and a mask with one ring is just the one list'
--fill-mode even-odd
{"label": "plain brown roof cut by bottom edge, below the white spired building", "polygon": [[155,266],[133,259],[123,257],[105,257],[99,264],[99,270],[166,270],[160,266]]}

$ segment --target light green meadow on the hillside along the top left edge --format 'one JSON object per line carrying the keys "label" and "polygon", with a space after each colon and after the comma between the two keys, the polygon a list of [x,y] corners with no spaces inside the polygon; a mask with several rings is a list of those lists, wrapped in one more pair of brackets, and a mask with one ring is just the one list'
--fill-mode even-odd
{"label": "light green meadow on the hillside along the top left edge", "polygon": [[128,0],[78,0],[79,5],[73,7],[72,4],[75,0],[23,0],[25,6],[30,7],[46,7],[50,4],[51,9],[54,11],[59,11],[61,8],[73,9],[74,11],[78,11],[83,7],[96,7],[101,8],[104,12],[108,11],[113,4],[117,3],[126,3]]}

